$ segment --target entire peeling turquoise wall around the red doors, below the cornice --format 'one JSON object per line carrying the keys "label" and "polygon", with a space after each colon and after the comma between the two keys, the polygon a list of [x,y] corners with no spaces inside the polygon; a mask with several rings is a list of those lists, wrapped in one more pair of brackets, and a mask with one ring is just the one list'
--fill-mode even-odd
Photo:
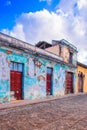
{"label": "entire peeling turquoise wall around the red doors, below the cornice", "polygon": [[[23,98],[39,99],[46,97],[46,71],[47,67],[53,68],[53,86],[54,96],[65,94],[65,72],[76,73],[74,68],[61,65],[51,60],[33,56],[24,52],[0,49],[0,102],[10,101],[10,62],[22,63],[23,69]],[[75,76],[74,76],[75,77]],[[74,88],[76,79],[74,78]]]}

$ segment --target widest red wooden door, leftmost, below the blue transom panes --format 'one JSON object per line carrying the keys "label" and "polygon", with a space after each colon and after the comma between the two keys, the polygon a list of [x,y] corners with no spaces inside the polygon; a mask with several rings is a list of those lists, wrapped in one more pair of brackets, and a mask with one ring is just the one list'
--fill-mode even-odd
{"label": "widest red wooden door, leftmost, below the blue transom panes", "polygon": [[10,72],[11,91],[14,91],[14,96],[17,100],[22,99],[22,72]]}

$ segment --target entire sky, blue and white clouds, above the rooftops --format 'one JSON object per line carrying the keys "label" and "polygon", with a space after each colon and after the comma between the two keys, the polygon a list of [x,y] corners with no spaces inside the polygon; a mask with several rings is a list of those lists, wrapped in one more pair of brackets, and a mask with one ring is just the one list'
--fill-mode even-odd
{"label": "entire sky, blue and white clouds, above the rooftops", "polygon": [[87,0],[0,0],[0,32],[30,44],[65,39],[87,65]]}

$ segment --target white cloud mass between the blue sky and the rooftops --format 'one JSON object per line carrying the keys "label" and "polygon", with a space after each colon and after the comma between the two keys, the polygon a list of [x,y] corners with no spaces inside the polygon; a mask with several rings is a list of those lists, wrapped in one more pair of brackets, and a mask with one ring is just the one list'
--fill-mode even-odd
{"label": "white cloud mass between the blue sky and the rooftops", "polygon": [[66,39],[77,46],[78,60],[87,64],[87,4],[85,1],[61,0],[55,12],[43,9],[23,13],[16,20],[12,30],[3,29],[2,31],[31,44],[40,40],[51,43],[53,39]]}

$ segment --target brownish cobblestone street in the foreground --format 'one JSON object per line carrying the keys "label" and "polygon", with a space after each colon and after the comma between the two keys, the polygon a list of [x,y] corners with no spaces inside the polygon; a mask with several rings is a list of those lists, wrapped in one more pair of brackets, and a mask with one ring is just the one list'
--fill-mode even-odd
{"label": "brownish cobblestone street in the foreground", "polygon": [[87,130],[87,94],[0,110],[0,130]]}

